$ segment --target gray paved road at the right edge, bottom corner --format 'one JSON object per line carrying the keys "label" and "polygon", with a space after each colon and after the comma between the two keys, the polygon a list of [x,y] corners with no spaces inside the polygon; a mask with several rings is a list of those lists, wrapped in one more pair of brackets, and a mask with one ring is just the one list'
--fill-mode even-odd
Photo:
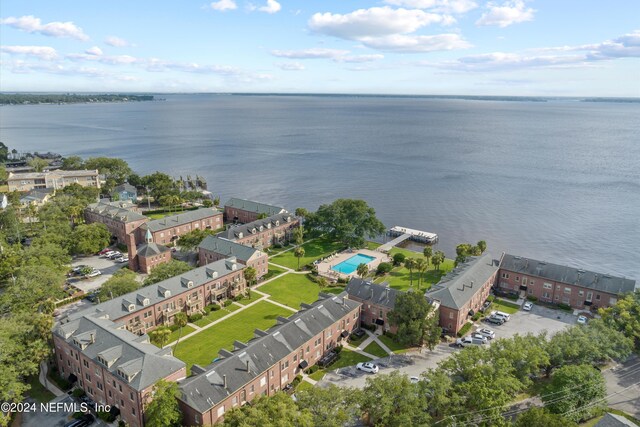
{"label": "gray paved road at the right edge, bottom corner", "polygon": [[609,406],[640,419],[640,357],[603,372]]}

